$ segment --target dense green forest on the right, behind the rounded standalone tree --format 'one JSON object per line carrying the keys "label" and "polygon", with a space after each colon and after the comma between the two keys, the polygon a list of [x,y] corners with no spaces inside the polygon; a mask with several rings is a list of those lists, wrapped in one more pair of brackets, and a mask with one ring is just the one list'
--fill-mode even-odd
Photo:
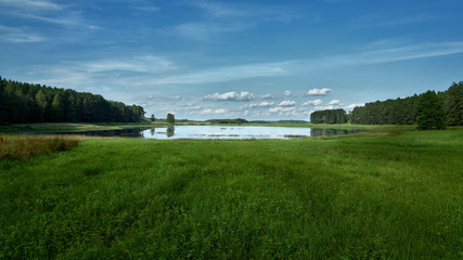
{"label": "dense green forest on the right, behind the rounded standalone tree", "polygon": [[[434,92],[434,91],[432,91]],[[426,92],[428,93],[428,92]],[[404,99],[376,101],[356,107],[351,123],[357,125],[413,125],[420,118],[419,103],[425,93]],[[445,92],[437,93],[436,102],[445,112],[448,126],[463,126],[463,81],[453,84]]]}

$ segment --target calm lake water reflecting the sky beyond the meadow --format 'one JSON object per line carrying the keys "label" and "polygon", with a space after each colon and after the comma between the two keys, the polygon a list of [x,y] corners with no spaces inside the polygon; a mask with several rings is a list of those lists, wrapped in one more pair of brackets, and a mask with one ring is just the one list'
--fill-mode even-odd
{"label": "calm lake water reflecting the sky beyond the meadow", "polygon": [[357,130],[311,129],[288,127],[241,127],[241,126],[176,126],[152,129],[125,129],[106,131],[79,132],[85,135],[98,136],[129,136],[142,139],[297,139],[320,135],[338,135],[356,133]]}

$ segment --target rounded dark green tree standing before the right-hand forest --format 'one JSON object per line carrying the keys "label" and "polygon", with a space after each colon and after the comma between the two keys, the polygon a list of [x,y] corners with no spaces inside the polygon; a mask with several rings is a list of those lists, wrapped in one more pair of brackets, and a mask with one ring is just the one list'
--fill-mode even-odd
{"label": "rounded dark green tree standing before the right-hand forest", "polygon": [[428,90],[421,95],[416,107],[417,129],[446,128],[446,113],[442,103],[442,100],[434,91]]}

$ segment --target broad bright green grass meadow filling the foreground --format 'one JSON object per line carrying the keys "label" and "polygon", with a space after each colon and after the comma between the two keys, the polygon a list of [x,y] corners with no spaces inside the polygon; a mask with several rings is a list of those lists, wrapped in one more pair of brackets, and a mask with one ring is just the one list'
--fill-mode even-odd
{"label": "broad bright green grass meadow filling the foreground", "polygon": [[462,259],[463,131],[0,159],[0,259]]}

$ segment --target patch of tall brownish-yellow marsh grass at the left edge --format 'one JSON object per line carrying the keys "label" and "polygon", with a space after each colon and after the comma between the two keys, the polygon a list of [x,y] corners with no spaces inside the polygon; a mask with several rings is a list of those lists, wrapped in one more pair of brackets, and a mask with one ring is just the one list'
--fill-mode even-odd
{"label": "patch of tall brownish-yellow marsh grass at the left edge", "polygon": [[0,134],[0,157],[23,159],[76,146],[83,136]]}

